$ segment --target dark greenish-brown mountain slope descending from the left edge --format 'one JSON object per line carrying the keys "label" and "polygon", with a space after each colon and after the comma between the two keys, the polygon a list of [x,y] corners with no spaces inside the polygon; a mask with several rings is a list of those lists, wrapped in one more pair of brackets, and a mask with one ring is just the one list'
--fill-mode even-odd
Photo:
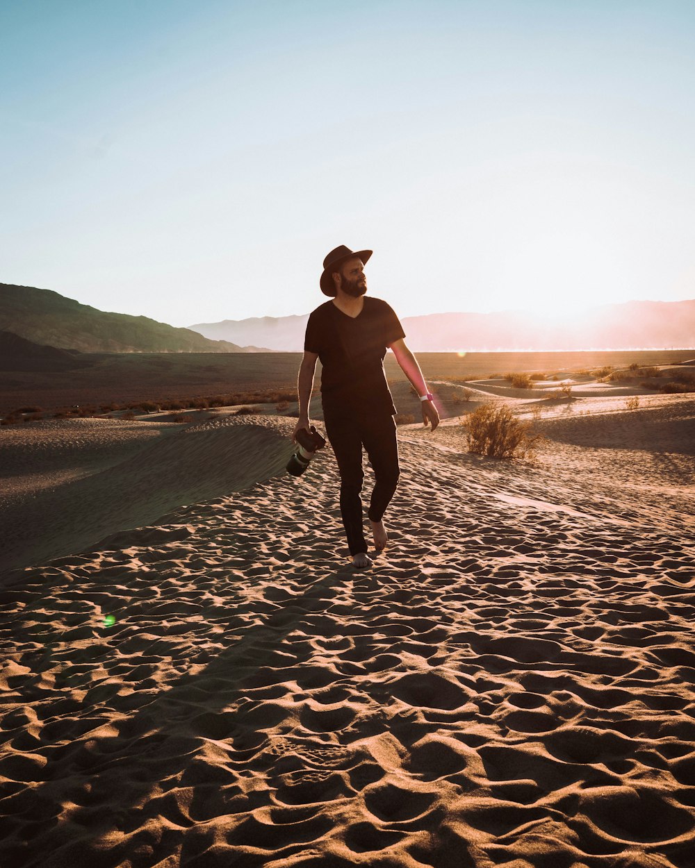
{"label": "dark greenish-brown mountain slope descending from the left edge", "polygon": [[37,345],[82,352],[254,352],[187,328],[107,313],[50,289],[0,283],[0,330]]}

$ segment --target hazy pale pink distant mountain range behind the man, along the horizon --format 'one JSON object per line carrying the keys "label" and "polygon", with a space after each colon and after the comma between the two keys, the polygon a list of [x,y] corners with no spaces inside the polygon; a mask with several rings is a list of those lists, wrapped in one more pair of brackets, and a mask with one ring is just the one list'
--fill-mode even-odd
{"label": "hazy pale pink distant mountain range behind the man, along the horizon", "polygon": [[[695,300],[629,301],[551,319],[527,311],[431,313],[401,320],[407,345],[418,352],[497,350],[631,350],[695,347]],[[224,319],[190,328],[206,338],[301,352],[303,316]]]}

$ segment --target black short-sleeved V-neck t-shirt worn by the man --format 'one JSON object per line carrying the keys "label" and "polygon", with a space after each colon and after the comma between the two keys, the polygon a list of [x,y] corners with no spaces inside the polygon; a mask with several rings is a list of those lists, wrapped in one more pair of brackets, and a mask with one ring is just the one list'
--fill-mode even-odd
{"label": "black short-sleeved V-neck t-shirt worn by the man", "polygon": [[309,316],[304,349],[318,353],[324,413],[383,411],[394,414],[394,399],[384,374],[387,347],[406,334],[398,317],[381,299],[364,297],[357,317],[348,317],[332,301]]}

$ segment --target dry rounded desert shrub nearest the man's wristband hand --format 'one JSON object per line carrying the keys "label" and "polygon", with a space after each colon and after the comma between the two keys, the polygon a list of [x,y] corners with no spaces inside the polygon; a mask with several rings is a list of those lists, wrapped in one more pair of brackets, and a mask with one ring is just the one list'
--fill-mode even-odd
{"label": "dry rounded desert shrub nearest the man's wristband hand", "polygon": [[540,434],[531,433],[531,424],[516,418],[505,406],[481,404],[463,423],[469,452],[493,458],[533,457]]}

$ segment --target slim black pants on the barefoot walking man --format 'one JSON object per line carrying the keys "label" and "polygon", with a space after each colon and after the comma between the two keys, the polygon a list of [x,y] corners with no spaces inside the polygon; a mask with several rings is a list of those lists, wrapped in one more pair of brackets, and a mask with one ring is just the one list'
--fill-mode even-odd
{"label": "slim black pants on the barefoot walking man", "polygon": [[341,472],[341,516],[351,555],[367,551],[367,542],[362,527],[362,446],[374,470],[376,484],[372,491],[367,516],[373,522],[381,517],[394,496],[400,470],[398,466],[398,443],[393,416],[355,413],[324,413],[326,433],[333,446],[338,470]]}

